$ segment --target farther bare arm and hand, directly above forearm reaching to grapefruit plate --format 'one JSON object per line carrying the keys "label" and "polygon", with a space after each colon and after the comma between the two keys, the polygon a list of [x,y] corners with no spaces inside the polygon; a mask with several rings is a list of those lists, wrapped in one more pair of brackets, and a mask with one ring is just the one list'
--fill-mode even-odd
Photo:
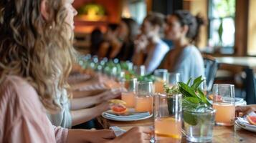
{"label": "farther bare arm and hand, directly above forearm reaching to grapefruit plate", "polygon": [[110,89],[101,94],[95,95],[93,97],[83,97],[71,99],[71,109],[85,109],[91,107],[94,104],[99,104],[101,102],[108,101],[109,99],[114,99],[120,96],[121,89]]}

